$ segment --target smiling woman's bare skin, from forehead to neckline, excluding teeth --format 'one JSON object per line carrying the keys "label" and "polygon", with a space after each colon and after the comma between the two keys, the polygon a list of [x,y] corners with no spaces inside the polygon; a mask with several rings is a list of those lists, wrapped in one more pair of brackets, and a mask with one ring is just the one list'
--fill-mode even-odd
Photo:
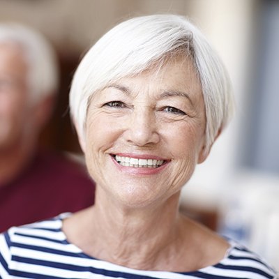
{"label": "smiling woman's bare skin, from forehead to neckline, excluding teeth", "polygon": [[[96,204],[63,221],[68,239],[133,269],[193,271],[222,259],[228,244],[178,210],[182,186],[208,156],[205,126],[202,89],[182,57],[93,95],[82,147]],[[125,167],[115,155],[164,163]]]}

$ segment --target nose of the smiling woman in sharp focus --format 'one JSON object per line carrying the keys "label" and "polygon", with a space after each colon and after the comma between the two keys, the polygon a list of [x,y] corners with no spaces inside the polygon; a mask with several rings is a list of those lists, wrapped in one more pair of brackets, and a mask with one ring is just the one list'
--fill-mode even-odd
{"label": "nose of the smiling woman in sharp focus", "polygon": [[125,137],[127,142],[136,146],[157,144],[160,141],[160,135],[154,112],[148,107],[134,110],[129,116]]}

